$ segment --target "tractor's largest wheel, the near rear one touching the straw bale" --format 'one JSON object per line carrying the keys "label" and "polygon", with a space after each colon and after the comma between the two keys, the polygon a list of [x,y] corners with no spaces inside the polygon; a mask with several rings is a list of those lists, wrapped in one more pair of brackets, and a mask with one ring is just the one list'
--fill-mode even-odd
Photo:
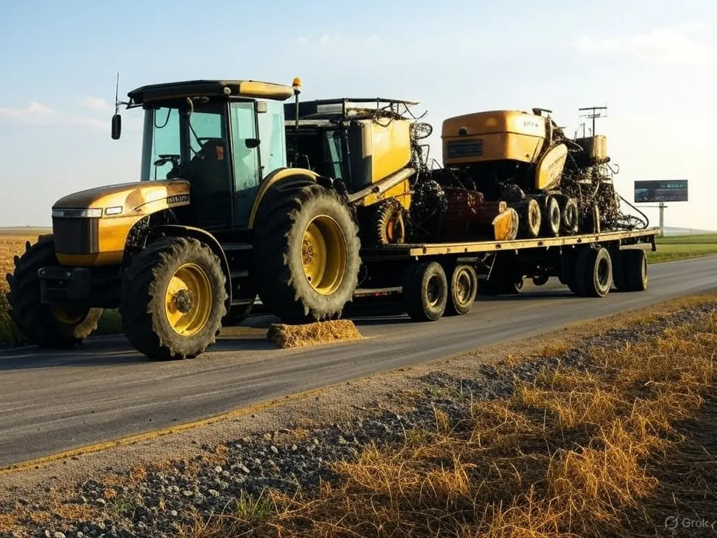
{"label": "tractor's largest wheel, the near rear one touching the straw bale", "polygon": [[285,323],[341,316],[359,283],[359,227],[339,195],[318,184],[275,189],[257,212],[254,277]]}

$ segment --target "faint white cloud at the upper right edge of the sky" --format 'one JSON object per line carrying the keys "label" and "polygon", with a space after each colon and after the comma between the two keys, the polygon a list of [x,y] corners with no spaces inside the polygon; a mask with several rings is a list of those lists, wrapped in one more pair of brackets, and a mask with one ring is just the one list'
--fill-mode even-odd
{"label": "faint white cloud at the upper right edge of the sky", "polygon": [[579,51],[589,55],[630,55],[657,63],[695,64],[717,60],[716,44],[706,42],[711,27],[704,23],[680,24],[632,37],[581,37]]}

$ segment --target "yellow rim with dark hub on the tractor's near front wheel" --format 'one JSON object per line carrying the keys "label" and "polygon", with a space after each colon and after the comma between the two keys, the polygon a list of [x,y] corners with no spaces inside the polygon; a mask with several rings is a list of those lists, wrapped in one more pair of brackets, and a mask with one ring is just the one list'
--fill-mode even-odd
{"label": "yellow rim with dark hub on the tractor's near front wheel", "polygon": [[212,284],[204,269],[185,263],[167,285],[164,299],[169,326],[181,336],[194,336],[204,329],[212,312]]}

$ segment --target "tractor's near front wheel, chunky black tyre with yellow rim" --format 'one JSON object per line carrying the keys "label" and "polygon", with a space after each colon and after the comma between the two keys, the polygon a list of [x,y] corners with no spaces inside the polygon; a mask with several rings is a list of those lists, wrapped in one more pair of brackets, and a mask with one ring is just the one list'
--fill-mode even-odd
{"label": "tractor's near front wheel, chunky black tyre with yellow rim", "polygon": [[227,313],[217,255],[190,237],[166,237],[138,253],[122,282],[125,336],[154,360],[191,359],[214,344]]}

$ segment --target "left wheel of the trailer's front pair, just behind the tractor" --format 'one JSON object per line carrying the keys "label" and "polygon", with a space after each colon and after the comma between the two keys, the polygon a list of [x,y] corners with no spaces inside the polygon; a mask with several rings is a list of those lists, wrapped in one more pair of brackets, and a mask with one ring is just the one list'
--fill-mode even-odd
{"label": "left wheel of the trailer's front pair, just behind the tractor", "polygon": [[403,296],[412,320],[439,320],[448,302],[448,282],[441,264],[425,262],[410,267],[404,275]]}

